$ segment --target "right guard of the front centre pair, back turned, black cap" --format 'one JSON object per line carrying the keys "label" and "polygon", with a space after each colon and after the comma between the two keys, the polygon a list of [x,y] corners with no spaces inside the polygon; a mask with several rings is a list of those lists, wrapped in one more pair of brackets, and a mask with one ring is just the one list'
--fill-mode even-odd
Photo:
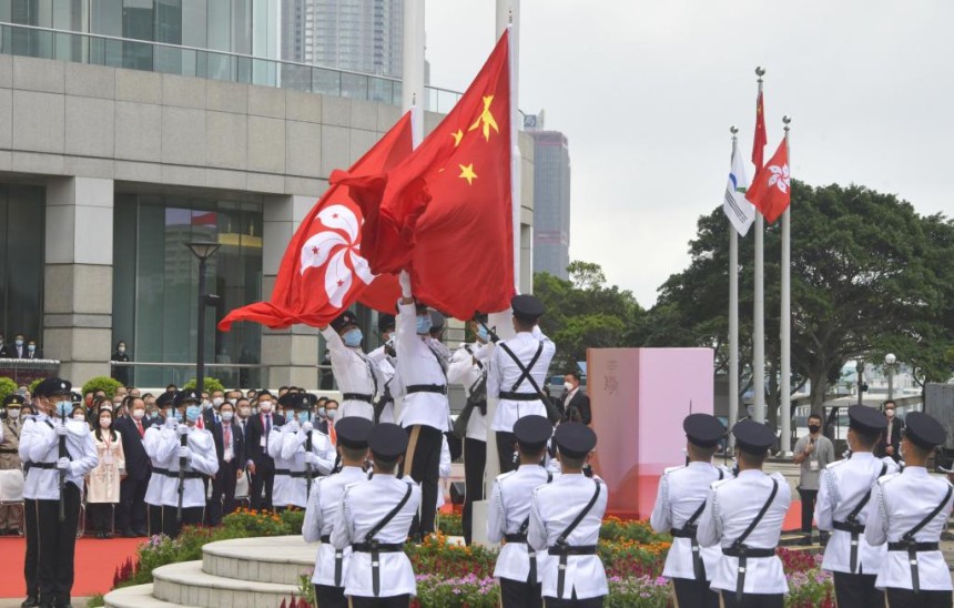
{"label": "right guard of the front centre pair, back turned, black cap", "polygon": [[596,440],[596,433],[579,423],[558,426],[554,442],[562,474],[534,490],[527,543],[537,554],[548,554],[540,568],[547,608],[598,607],[609,592],[596,555],[607,488],[599,477],[583,475]]}

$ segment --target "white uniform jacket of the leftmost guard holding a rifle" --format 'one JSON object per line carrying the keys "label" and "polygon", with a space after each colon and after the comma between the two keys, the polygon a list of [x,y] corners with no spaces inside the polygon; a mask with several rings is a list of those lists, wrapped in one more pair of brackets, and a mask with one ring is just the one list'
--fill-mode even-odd
{"label": "white uniform jacket of the leftmost guard holding a rifle", "polygon": [[[20,462],[24,466],[40,463],[57,463],[60,459],[60,436],[57,428],[63,423],[45,414],[30,416],[20,432]],[[97,467],[99,457],[93,434],[85,422],[68,419],[67,452],[70,467],[67,483],[73,484],[83,493],[83,477]],[[60,499],[60,469],[33,467],[23,483],[23,498],[30,500]]]}

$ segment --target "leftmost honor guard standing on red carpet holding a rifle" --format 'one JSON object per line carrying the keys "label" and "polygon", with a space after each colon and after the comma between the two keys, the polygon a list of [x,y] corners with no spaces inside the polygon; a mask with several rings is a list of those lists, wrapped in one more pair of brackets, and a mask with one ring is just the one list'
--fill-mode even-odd
{"label": "leftmost honor guard standing on red carpet holding a rifle", "polygon": [[99,464],[90,426],[70,414],[72,385],[47,378],[33,391],[37,414],[23,423],[27,555],[22,606],[70,606],[83,477]]}

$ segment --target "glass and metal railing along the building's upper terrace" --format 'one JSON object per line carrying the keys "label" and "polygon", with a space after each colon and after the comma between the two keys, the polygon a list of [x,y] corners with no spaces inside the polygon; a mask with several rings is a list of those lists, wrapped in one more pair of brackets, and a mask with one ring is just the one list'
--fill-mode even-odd
{"label": "glass and metal railing along the building's upper terrace", "polygon": [[[392,105],[402,102],[402,81],[395,78],[38,26],[0,22],[0,53],[293,89]],[[449,112],[461,95],[439,87],[425,87],[424,93],[424,109],[438,113]]]}

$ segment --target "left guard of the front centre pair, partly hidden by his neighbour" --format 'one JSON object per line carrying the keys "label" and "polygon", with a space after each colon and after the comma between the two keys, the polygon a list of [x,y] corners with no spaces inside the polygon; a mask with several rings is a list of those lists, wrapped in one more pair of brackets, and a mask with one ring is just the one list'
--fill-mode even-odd
{"label": "left guard of the front centre pair, partly hidden by his neighbour", "polygon": [[527,545],[534,489],[552,480],[542,467],[544,452],[554,433],[544,416],[524,416],[514,424],[520,467],[498,475],[487,508],[487,540],[506,544],[497,556],[494,576],[500,579],[504,608],[541,607],[542,572],[549,556]]}

